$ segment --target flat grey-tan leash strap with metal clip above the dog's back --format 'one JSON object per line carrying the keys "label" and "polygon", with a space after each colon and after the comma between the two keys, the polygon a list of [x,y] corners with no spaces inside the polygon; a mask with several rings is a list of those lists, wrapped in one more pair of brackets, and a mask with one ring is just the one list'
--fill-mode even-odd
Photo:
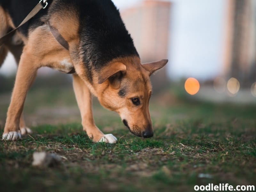
{"label": "flat grey-tan leash strap with metal clip above the dog's back", "polygon": [[[44,4],[44,5],[43,5]],[[25,17],[25,19],[20,23],[20,25],[18,27],[16,27],[15,29],[13,29],[12,31],[10,31],[9,33],[7,33],[5,36],[0,38],[0,46],[2,44],[4,44],[4,42],[9,39],[10,37],[12,37],[15,33],[15,31],[20,28],[24,23],[26,23],[28,20],[30,20],[32,17],[34,17],[36,15],[36,13],[38,13],[41,9],[45,9],[47,7],[48,3],[47,0],[40,0],[39,3],[34,7],[34,9],[28,13],[27,17]]]}

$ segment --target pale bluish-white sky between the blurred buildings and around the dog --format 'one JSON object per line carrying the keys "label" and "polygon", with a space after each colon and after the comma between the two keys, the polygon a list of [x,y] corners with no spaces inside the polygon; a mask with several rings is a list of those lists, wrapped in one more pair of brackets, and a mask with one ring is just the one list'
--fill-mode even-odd
{"label": "pale bluish-white sky between the blurred buildings and around the dog", "polygon": [[[113,0],[123,9],[142,0]],[[196,77],[207,80],[221,70],[224,29],[223,0],[169,0],[172,4],[168,74],[172,79]],[[2,74],[15,72],[16,66],[9,55],[0,69]]]}

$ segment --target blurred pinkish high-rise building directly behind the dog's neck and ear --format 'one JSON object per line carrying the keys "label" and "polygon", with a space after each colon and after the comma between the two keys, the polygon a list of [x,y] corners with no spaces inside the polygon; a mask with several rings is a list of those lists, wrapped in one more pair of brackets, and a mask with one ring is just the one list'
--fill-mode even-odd
{"label": "blurred pinkish high-rise building directly behind the dog's neck and ear", "polygon": [[[168,55],[171,3],[144,0],[121,12],[122,19],[131,34],[141,62],[166,59]],[[152,76],[152,84],[161,87],[168,82],[166,67]],[[155,87],[156,89],[156,87]]]}

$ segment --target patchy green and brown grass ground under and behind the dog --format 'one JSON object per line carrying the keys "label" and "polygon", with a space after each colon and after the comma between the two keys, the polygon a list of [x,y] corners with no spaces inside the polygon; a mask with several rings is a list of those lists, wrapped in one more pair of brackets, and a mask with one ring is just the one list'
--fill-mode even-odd
{"label": "patchy green and brown grass ground under and behind the dog", "polygon": [[[0,191],[194,191],[195,185],[208,183],[255,185],[255,106],[178,100],[166,91],[150,102],[154,137],[142,139],[96,102],[96,124],[118,138],[113,145],[92,143],[82,131],[70,87],[47,90],[34,88],[28,94],[25,114],[34,133],[0,141]],[[9,93],[0,94],[2,128],[6,98]],[[34,168],[35,151],[56,153],[62,162]]]}

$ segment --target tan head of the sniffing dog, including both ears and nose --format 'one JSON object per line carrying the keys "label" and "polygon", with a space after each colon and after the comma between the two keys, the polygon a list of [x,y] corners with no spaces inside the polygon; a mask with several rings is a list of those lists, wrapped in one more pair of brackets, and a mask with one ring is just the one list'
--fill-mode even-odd
{"label": "tan head of the sniffing dog, including both ears and nose", "polygon": [[114,60],[98,75],[98,99],[102,106],[117,112],[126,127],[138,137],[153,136],[149,114],[152,93],[149,76],[168,60],[140,64],[139,58]]}

